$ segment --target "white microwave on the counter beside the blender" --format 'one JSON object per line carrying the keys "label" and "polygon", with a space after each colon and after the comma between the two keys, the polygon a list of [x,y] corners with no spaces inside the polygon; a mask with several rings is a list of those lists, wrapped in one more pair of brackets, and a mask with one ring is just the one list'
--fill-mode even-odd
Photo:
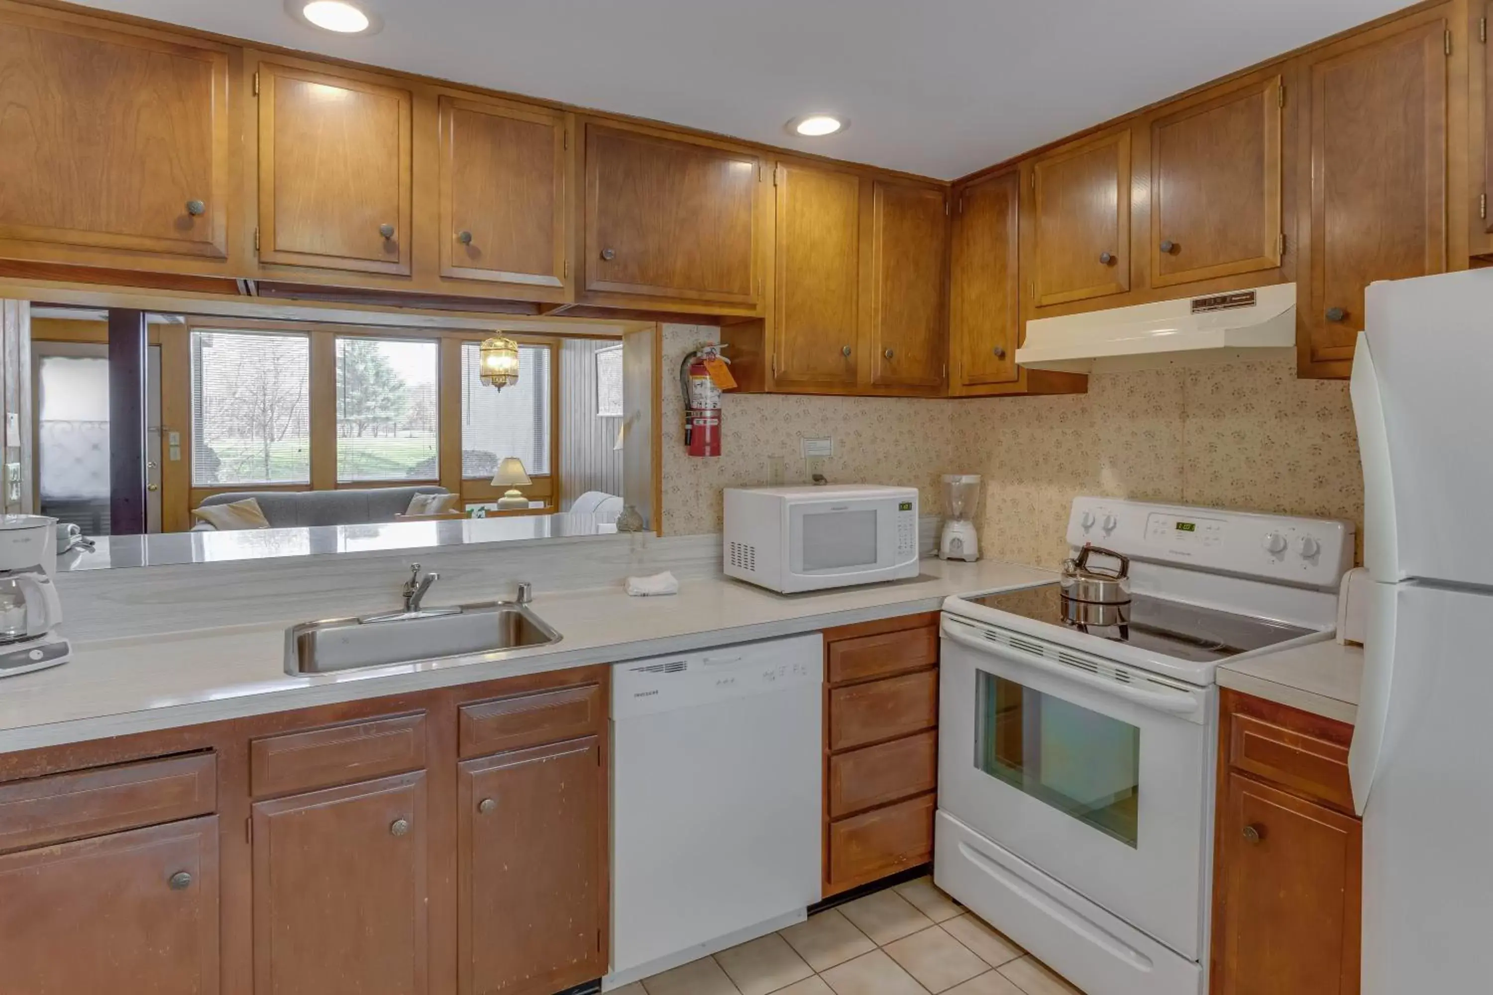
{"label": "white microwave on the counter beside the blender", "polygon": [[726,576],[781,594],[918,576],[918,491],[726,488]]}

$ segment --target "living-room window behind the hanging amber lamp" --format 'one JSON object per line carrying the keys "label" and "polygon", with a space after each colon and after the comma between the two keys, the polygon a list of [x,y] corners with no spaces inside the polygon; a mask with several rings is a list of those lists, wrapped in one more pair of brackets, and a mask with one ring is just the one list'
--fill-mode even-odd
{"label": "living-room window behind the hanging amber lamp", "polygon": [[502,391],[478,376],[476,342],[461,343],[461,476],[491,477],[518,456],[529,476],[549,473],[549,346],[518,346],[518,383]]}

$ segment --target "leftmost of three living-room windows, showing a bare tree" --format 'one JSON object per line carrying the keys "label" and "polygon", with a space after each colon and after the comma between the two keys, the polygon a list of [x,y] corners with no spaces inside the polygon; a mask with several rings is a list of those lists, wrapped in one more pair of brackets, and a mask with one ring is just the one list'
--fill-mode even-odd
{"label": "leftmost of three living-room windows, showing a bare tree", "polygon": [[311,342],[193,331],[193,486],[311,483]]}

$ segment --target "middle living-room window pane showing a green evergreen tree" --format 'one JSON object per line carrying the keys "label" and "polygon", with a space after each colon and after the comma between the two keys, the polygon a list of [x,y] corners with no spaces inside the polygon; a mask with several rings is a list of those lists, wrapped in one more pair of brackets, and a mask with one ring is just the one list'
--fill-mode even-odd
{"label": "middle living-room window pane showing a green evergreen tree", "polygon": [[337,339],[337,483],[439,480],[440,345]]}

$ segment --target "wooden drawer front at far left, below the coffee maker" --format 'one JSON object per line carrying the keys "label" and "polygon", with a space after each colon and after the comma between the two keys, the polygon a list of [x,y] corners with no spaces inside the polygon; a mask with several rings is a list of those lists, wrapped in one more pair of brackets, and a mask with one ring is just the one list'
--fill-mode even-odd
{"label": "wooden drawer front at far left, below the coffee maker", "polygon": [[218,759],[194,753],[0,785],[0,852],[205,816]]}

